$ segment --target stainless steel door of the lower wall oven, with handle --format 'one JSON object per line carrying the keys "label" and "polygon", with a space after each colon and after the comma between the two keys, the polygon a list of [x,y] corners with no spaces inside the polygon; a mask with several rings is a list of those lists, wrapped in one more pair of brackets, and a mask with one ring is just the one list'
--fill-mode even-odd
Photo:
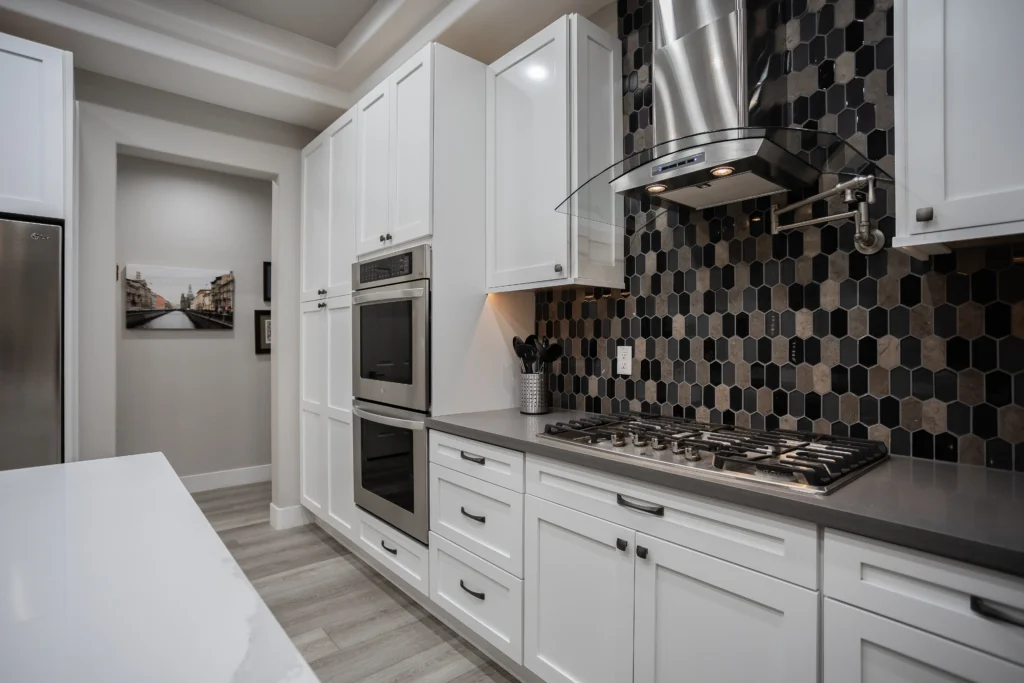
{"label": "stainless steel door of the lower wall oven, with handle", "polygon": [[352,403],[355,504],[427,544],[427,426],[422,415]]}

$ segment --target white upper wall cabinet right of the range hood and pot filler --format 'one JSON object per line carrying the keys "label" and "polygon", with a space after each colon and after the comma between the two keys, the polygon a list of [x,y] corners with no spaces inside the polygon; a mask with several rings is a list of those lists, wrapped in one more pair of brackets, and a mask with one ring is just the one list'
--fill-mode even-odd
{"label": "white upper wall cabinet right of the range hood and pot filler", "polygon": [[928,254],[1024,232],[1024,3],[897,0],[894,11],[893,245]]}

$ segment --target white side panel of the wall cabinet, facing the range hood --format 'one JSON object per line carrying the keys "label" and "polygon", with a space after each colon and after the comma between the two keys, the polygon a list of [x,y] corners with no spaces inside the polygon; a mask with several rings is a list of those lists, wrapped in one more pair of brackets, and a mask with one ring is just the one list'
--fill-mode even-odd
{"label": "white side panel of the wall cabinet, facing the range hood", "polygon": [[584,184],[623,158],[622,49],[591,22],[572,15],[572,154],[569,184],[575,232],[575,274],[622,283],[623,198],[605,182]]}

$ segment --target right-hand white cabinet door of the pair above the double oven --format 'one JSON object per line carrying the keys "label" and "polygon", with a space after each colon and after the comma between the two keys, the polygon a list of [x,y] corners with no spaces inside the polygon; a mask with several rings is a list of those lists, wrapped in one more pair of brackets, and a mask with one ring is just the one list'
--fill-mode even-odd
{"label": "right-hand white cabinet door of the pair above the double oven", "polygon": [[388,79],[391,98],[389,247],[430,234],[432,50],[433,45],[427,45]]}

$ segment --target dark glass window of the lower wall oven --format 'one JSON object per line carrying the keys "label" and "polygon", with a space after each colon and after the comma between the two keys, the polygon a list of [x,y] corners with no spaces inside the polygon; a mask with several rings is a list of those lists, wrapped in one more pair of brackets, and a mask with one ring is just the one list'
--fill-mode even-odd
{"label": "dark glass window of the lower wall oven", "polygon": [[414,509],[413,431],[359,420],[359,458],[366,490]]}

